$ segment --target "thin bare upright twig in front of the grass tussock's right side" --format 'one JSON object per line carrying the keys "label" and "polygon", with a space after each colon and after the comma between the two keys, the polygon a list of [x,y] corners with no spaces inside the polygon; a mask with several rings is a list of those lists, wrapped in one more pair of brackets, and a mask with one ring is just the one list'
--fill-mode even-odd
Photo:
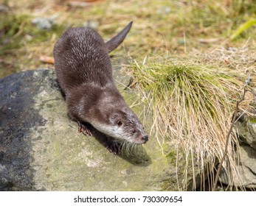
{"label": "thin bare upright twig in front of the grass tussock's right side", "polygon": [[232,124],[229,128],[229,132],[227,133],[226,135],[226,143],[225,143],[225,150],[224,150],[224,154],[223,154],[223,157],[221,158],[221,162],[218,164],[218,170],[217,170],[217,174],[216,174],[216,177],[215,177],[215,180],[214,180],[214,184],[213,184],[213,187],[212,187],[212,191],[215,191],[216,190],[216,186],[217,186],[217,182],[218,182],[218,177],[221,173],[221,166],[224,162],[224,159],[226,157],[226,154],[227,154],[227,149],[228,149],[228,144],[229,144],[229,138],[230,138],[230,135],[231,135],[231,132],[232,132],[232,129],[235,125],[235,121],[236,121],[236,118],[238,116],[238,109],[239,109],[239,104],[241,102],[243,102],[244,100],[244,97],[246,96],[246,88],[243,89],[243,96],[241,98],[241,100],[239,100],[238,102],[236,102],[236,107],[235,107],[235,112],[233,114],[233,117],[232,117]]}

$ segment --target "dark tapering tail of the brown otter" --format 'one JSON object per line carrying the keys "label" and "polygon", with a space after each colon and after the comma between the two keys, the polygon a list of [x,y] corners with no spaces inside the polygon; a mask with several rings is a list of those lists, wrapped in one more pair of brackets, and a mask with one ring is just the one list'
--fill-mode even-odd
{"label": "dark tapering tail of the brown otter", "polygon": [[133,22],[131,21],[127,26],[125,26],[125,29],[122,29],[122,31],[118,35],[114,36],[114,38],[111,38],[111,40],[108,40],[108,42],[105,43],[108,48],[108,53],[116,49],[117,46],[122,43],[128,32],[130,31],[132,24]]}

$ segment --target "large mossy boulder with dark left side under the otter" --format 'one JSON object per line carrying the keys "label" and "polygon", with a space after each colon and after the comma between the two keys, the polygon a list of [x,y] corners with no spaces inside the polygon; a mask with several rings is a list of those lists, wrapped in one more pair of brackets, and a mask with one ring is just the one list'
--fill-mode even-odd
{"label": "large mossy boulder with dark left side under the otter", "polygon": [[156,138],[114,155],[100,132],[77,132],[54,69],[0,79],[0,117],[0,191],[162,191],[176,182]]}

